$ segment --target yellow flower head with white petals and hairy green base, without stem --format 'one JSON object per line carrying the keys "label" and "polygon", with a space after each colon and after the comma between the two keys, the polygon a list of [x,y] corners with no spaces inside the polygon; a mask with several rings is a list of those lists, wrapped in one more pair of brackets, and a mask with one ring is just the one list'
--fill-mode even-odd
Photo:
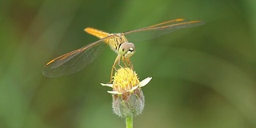
{"label": "yellow flower head with white petals and hairy green base, without stem", "polygon": [[145,104],[141,87],[146,86],[150,80],[149,77],[139,82],[134,70],[120,68],[114,74],[113,84],[102,84],[113,88],[107,92],[112,94],[114,114],[121,118],[141,114]]}

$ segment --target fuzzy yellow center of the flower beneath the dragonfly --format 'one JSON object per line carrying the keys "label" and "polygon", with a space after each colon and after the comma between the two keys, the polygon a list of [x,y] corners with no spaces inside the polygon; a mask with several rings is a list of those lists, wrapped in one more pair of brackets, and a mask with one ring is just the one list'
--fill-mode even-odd
{"label": "fuzzy yellow center of the flower beneath the dragonfly", "polygon": [[126,93],[134,86],[138,86],[137,74],[130,68],[120,68],[114,74],[113,90],[119,93]]}

